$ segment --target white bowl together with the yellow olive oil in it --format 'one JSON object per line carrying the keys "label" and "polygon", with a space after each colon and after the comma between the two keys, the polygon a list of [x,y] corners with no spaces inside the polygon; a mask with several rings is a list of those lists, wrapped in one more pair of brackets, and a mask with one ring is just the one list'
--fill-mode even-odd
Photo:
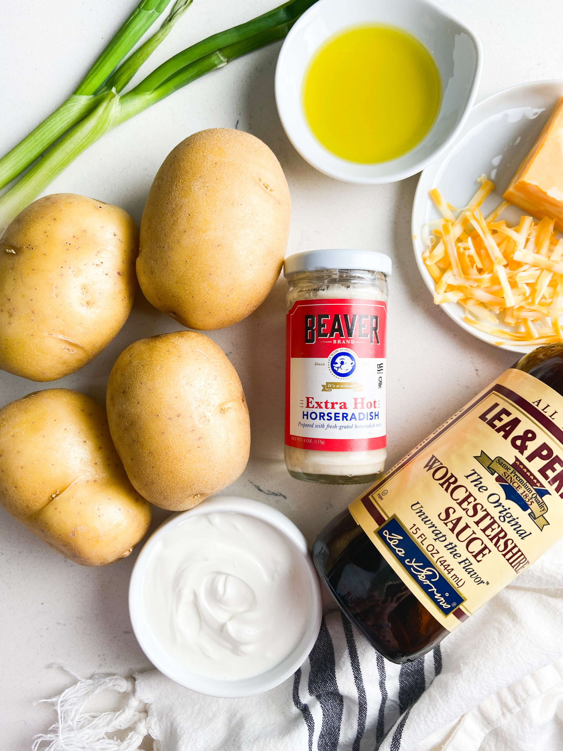
{"label": "white bowl together with the yellow olive oil in it", "polygon": [[345,182],[395,182],[459,133],[482,58],[471,29],[430,0],[319,0],[281,47],[275,101],[313,167]]}

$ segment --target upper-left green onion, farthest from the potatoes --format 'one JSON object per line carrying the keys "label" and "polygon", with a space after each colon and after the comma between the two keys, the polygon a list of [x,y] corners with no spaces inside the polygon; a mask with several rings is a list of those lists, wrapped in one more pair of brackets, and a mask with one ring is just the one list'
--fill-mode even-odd
{"label": "upper-left green onion, farthest from the potatoes", "polygon": [[[32,164],[45,149],[48,149],[63,133],[68,131],[68,128],[80,122],[83,117],[91,113],[92,110],[95,110],[102,103],[105,91],[100,92],[98,89],[104,87],[104,84],[116,66],[131,52],[135,44],[137,44],[152,24],[155,23],[155,20],[161,15],[169,2],[170,0],[141,0],[131,16],[128,17],[121,29],[119,29],[119,32],[110,41],[110,44],[107,45],[104,52],[101,53],[101,56],[92,65],[92,68],[90,68],[74,94],[63,102],[60,107],[57,107],[47,119],[44,119],[17,146],[14,146],[14,149],[11,149],[8,154],[0,159],[0,189],[8,185],[8,182],[11,182],[26,167],[29,167],[29,164]],[[176,3],[176,5],[178,4]],[[170,21],[170,18],[168,21]],[[170,29],[167,30],[164,37]],[[162,38],[164,39],[164,37]],[[149,44],[151,41],[149,39],[149,42],[146,44]],[[158,46],[160,41],[162,39],[155,46]],[[143,45],[143,47],[145,46]],[[143,50],[143,47],[140,50]],[[137,50],[137,53],[140,53],[140,50]],[[142,62],[140,62],[140,65],[142,65]],[[138,67],[140,66],[137,66],[137,69]],[[131,80],[134,72],[128,80]]]}

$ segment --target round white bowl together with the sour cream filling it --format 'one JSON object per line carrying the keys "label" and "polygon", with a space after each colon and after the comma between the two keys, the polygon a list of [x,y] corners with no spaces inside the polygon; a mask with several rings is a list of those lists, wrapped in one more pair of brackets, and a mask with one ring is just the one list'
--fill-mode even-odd
{"label": "round white bowl together with the sour cream filling it", "polygon": [[129,613],[167,677],[211,696],[250,696],[309,655],[321,589],[293,522],[263,503],[218,496],[152,534],[131,575]]}

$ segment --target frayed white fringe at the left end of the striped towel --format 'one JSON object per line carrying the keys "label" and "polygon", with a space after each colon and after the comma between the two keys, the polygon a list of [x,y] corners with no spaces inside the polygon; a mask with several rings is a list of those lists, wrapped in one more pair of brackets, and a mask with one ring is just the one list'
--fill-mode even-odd
{"label": "frayed white fringe at the left end of the striped towel", "polygon": [[[147,735],[146,712],[137,707],[134,678],[120,675],[96,674],[84,680],[64,665],[62,668],[77,679],[77,683],[61,695],[43,699],[56,708],[57,722],[45,734],[36,735],[33,751],[138,751]],[[84,712],[84,705],[101,691],[116,691],[128,696],[125,707],[116,712]],[[41,704],[41,702],[38,702]],[[124,740],[108,738],[108,734],[130,731]]]}

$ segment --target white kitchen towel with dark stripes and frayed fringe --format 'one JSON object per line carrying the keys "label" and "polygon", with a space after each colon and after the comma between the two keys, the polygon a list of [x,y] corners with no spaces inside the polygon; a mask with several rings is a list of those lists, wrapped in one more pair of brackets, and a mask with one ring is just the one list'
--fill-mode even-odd
{"label": "white kitchen towel with dark stripes and frayed fringe", "polygon": [[[203,696],[152,670],[53,698],[35,751],[561,751],[563,542],[423,658],[387,662],[339,611],[269,692]],[[86,711],[104,689],[115,712]],[[143,738],[145,738],[143,742]]]}

